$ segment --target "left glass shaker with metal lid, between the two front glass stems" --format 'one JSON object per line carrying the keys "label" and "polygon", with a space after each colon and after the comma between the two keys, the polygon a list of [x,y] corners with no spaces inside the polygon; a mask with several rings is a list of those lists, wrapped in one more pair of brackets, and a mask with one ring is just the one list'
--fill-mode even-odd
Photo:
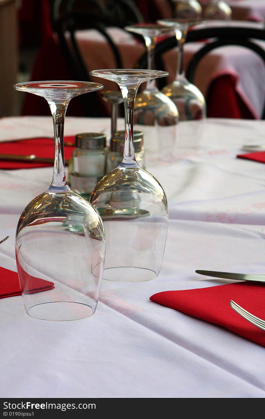
{"label": "left glass shaker with metal lid, between the two front glass stems", "polygon": [[105,175],[106,136],[99,132],[77,134],[75,147],[68,164],[68,183],[73,191],[89,199]]}

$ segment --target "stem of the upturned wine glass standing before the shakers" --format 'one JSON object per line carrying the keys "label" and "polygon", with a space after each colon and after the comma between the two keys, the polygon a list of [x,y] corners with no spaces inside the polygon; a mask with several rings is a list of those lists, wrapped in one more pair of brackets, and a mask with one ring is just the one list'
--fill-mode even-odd
{"label": "stem of the upturned wine glass standing before the shakers", "polygon": [[122,163],[126,166],[135,166],[134,157],[134,103],[138,87],[120,86],[125,111],[125,142]]}

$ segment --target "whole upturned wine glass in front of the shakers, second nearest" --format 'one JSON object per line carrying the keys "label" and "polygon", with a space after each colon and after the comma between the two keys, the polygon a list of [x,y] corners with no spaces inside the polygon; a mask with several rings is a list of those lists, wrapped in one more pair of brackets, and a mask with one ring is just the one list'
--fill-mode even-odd
{"label": "whole upturned wine glass in front of the shakers, second nearest", "polygon": [[118,83],[125,109],[123,160],[98,182],[90,197],[106,231],[103,278],[148,281],[160,272],[167,237],[168,208],[162,186],[135,160],[134,102],[141,83],[165,77],[168,72],[118,69],[94,70],[90,74]]}

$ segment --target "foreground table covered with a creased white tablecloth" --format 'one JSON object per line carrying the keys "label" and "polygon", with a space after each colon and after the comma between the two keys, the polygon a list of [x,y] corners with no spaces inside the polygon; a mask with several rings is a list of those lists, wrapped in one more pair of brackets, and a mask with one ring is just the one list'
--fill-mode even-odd
{"label": "foreground table covered with a creased white tablecloth", "polygon": [[[149,301],[231,282],[196,269],[265,273],[265,166],[236,158],[242,145],[264,143],[265,122],[207,119],[197,139],[198,123],[182,123],[185,142],[176,142],[170,162],[146,156],[169,203],[160,275],[103,280],[95,314],[77,321],[31,318],[21,296],[0,300],[1,397],[264,398],[264,347]],[[65,122],[66,135],[102,129],[109,137],[109,119]],[[0,119],[1,141],[52,134],[51,117]],[[49,187],[52,170],[0,170],[0,238],[9,235],[0,266],[16,270],[18,217]]]}

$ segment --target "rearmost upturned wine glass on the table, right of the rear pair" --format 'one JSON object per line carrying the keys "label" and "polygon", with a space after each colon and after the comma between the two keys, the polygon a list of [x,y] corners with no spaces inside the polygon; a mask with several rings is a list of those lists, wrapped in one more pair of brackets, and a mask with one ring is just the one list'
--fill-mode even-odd
{"label": "rearmost upturned wine glass on the table, right of the rear pair", "polygon": [[180,121],[203,119],[206,116],[206,103],[199,89],[190,83],[183,70],[183,46],[189,27],[200,23],[200,20],[179,18],[159,19],[159,23],[171,26],[175,30],[178,42],[178,63],[175,80],[162,89],[178,107]]}

